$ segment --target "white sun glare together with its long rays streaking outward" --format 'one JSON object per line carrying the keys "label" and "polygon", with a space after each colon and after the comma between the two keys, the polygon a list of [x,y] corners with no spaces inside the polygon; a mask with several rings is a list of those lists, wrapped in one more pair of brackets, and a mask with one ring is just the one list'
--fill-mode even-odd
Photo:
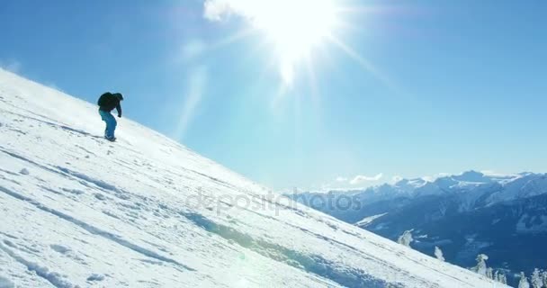
{"label": "white sun glare together with its long rays streaking outward", "polygon": [[[343,0],[205,0],[204,17],[215,22],[241,16],[251,28],[239,31],[221,45],[231,43],[259,31],[265,36],[268,50],[275,55],[275,65],[282,77],[283,88],[294,82],[297,68],[305,60],[309,84],[317,90],[312,54],[314,49],[332,44],[352,58],[384,85],[399,91],[389,76],[381,73],[372,62],[347,45],[337,35],[341,29],[355,28],[345,15],[373,14],[389,11],[390,6],[352,6]],[[280,92],[285,91],[280,89]],[[398,92],[399,93],[399,92]]]}

